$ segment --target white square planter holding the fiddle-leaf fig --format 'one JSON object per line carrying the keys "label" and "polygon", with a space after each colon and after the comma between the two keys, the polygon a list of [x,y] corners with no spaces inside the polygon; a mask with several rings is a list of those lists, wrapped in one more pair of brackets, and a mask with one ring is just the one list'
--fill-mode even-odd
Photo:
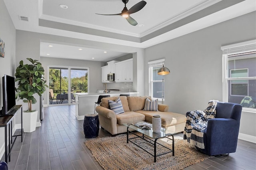
{"label": "white square planter holding the fiddle-leaf fig", "polygon": [[37,114],[38,111],[22,113],[24,132],[34,132],[36,130]]}

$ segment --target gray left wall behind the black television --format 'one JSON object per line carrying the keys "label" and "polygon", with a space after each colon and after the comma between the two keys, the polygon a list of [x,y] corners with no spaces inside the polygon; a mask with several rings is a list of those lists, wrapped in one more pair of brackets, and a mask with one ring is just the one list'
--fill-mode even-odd
{"label": "gray left wall behind the black television", "polygon": [[[15,28],[3,0],[0,0],[0,38],[5,43],[4,58],[0,57],[0,110],[2,110],[2,77],[14,76],[15,71]],[[15,123],[15,121],[14,121]],[[0,148],[4,145],[4,128],[0,128]],[[0,150],[0,158],[2,158]]]}

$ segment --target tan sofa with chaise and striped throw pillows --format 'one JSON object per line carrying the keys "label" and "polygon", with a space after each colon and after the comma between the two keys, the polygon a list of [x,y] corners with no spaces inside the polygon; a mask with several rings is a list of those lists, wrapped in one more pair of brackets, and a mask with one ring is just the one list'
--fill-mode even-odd
{"label": "tan sofa with chaise and striped throw pillows", "polygon": [[118,97],[106,97],[101,100],[100,106],[96,107],[99,114],[100,127],[104,128],[112,135],[124,133],[127,127],[123,123],[132,123],[136,121],[146,121],[152,123],[153,115],[160,115],[162,127],[166,128],[166,133],[182,132],[185,127],[186,116],[179,113],[168,112],[169,107],[164,104],[158,104],[159,111],[143,111],[146,98],[150,96],[120,96],[124,113],[116,115],[110,106],[108,100],[115,101]]}

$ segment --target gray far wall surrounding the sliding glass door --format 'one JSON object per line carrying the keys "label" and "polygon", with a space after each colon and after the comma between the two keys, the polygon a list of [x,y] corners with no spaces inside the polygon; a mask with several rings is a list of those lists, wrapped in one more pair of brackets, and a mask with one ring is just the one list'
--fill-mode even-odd
{"label": "gray far wall surrounding the sliding glass door", "polygon": [[[45,70],[45,79],[48,80],[48,66],[73,66],[73,67],[88,67],[89,68],[89,92],[96,93],[97,89],[102,89],[101,83],[101,67],[105,62],[86,61],[78,59],[62,59],[52,57],[40,57],[40,62]],[[99,83],[100,82],[100,83]],[[47,89],[48,90],[48,89]],[[46,91],[45,94],[49,94]],[[44,105],[47,104],[47,96],[44,96]]]}

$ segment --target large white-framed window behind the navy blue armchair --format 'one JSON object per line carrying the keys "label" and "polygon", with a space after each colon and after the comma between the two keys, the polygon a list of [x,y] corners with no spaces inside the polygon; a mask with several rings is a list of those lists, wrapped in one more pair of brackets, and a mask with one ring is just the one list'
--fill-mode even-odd
{"label": "large white-framed window behind the navy blue armchair", "polygon": [[256,111],[256,40],[226,45],[223,50],[223,101]]}

